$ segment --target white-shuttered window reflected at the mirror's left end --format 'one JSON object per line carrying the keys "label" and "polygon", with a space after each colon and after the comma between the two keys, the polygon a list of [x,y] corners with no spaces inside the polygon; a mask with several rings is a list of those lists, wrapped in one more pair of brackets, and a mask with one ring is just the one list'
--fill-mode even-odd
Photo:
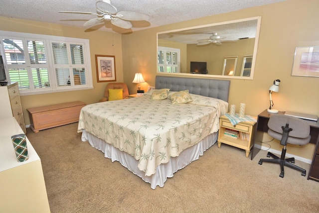
{"label": "white-shuttered window reflected at the mirror's left end", "polygon": [[159,47],[158,72],[179,73],[179,49]]}

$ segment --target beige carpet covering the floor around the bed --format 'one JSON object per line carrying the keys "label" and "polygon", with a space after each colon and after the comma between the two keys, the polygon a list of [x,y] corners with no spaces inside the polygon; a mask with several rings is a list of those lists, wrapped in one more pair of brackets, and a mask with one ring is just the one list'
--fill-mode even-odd
{"label": "beige carpet covering the floor around the bed", "polygon": [[243,150],[216,143],[153,190],[82,142],[77,123],[39,133],[28,128],[27,137],[41,158],[52,213],[319,212],[319,182],[290,168],[280,178],[279,165],[258,164],[266,151],[250,160]]}

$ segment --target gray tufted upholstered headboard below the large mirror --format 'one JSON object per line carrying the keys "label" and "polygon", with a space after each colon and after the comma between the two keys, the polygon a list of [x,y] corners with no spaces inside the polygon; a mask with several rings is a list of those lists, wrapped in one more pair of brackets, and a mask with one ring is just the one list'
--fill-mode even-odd
{"label": "gray tufted upholstered headboard below the large mirror", "polygon": [[191,94],[221,99],[228,102],[230,81],[156,76],[155,89],[163,88],[170,89],[170,91],[188,90]]}

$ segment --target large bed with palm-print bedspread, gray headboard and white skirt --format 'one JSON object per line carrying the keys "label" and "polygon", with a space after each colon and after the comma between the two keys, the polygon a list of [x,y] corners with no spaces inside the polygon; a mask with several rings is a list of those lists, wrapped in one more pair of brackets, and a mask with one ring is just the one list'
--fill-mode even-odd
{"label": "large bed with palm-print bedspread, gray headboard and white skirt", "polygon": [[[163,187],[167,178],[217,141],[229,88],[228,80],[156,76],[155,90],[142,97],[84,106],[78,132],[82,141],[120,162],[152,189]],[[161,89],[169,89],[168,97],[150,100]],[[190,101],[173,105],[179,91],[186,91]]]}

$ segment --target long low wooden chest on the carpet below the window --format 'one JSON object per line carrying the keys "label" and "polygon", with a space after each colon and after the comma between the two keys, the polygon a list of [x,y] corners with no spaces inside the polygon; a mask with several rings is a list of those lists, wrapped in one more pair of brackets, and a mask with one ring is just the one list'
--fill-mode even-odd
{"label": "long low wooden chest on the carpet below the window", "polygon": [[79,121],[80,110],[86,104],[69,102],[64,104],[28,108],[30,128],[34,132]]}

